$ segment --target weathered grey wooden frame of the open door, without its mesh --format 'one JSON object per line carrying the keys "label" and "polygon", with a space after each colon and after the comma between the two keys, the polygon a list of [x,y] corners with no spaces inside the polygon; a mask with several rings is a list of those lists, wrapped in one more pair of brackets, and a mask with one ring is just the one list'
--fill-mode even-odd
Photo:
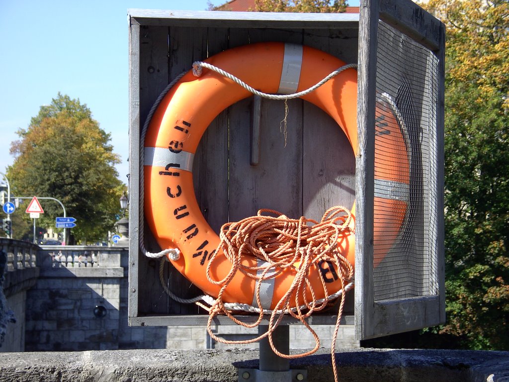
{"label": "weathered grey wooden frame of the open door, without its mesh", "polygon": [[[431,172],[436,176],[430,219],[437,229],[430,240],[434,276],[438,291],[425,296],[375,301],[374,287],[374,192],[375,192],[375,104],[377,85],[377,46],[379,22],[392,26],[428,48],[438,59],[436,94],[436,161]],[[356,158],[356,254],[355,326],[358,340],[427,328],[445,321],[444,221],[443,221],[443,139],[444,139],[444,53],[445,26],[410,0],[363,0],[359,19],[358,137]]]}

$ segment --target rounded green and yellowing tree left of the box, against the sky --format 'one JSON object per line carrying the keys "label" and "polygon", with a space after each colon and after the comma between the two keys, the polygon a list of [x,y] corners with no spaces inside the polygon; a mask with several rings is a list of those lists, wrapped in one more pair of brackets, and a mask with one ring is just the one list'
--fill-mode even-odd
{"label": "rounded green and yellowing tree left of the box, against the sky", "polygon": [[[71,243],[72,237],[104,238],[120,214],[125,185],[117,179],[114,165],[119,157],[109,144],[110,135],[87,105],[59,93],[18,135],[20,140],[11,145],[15,161],[8,169],[13,194],[60,200],[67,215],[77,219]],[[45,213],[38,224],[54,227],[62,207],[53,201],[41,204]]]}

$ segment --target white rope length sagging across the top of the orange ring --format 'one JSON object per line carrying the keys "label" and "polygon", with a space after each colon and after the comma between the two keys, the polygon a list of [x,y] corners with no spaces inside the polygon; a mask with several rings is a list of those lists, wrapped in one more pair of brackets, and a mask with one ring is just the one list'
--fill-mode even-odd
{"label": "white rope length sagging across the top of the orange ring", "polygon": [[309,94],[311,93],[312,91],[318,89],[319,87],[321,87],[323,84],[325,84],[329,79],[335,77],[336,75],[340,74],[342,71],[344,70],[347,70],[347,69],[350,69],[350,68],[354,68],[356,69],[357,68],[357,64],[347,64],[347,65],[344,65],[342,66],[341,68],[337,68],[336,70],[334,70],[332,73],[330,73],[327,77],[325,77],[324,79],[322,79],[321,81],[319,81],[317,84],[313,85],[312,87],[306,89],[306,90],[303,90],[301,92],[298,92],[298,93],[293,93],[293,94],[269,94],[269,93],[263,93],[263,92],[260,92],[254,88],[252,88],[251,86],[247,85],[244,81],[242,81],[240,78],[234,76],[233,74],[231,73],[228,73],[228,72],[225,72],[224,70],[214,66],[214,65],[211,65],[211,64],[208,64],[206,62],[202,62],[202,61],[196,61],[192,64],[192,73],[195,77],[200,77],[203,73],[203,70],[202,68],[207,68],[207,69],[210,69],[218,74],[221,74],[223,75],[224,77],[227,77],[227,78],[230,78],[232,81],[234,81],[236,84],[242,86],[244,89],[248,90],[249,92],[255,94],[255,95],[258,95],[260,97],[263,97],[263,98],[268,98],[268,99],[293,99],[293,98],[299,98],[299,97],[302,97],[306,94]]}

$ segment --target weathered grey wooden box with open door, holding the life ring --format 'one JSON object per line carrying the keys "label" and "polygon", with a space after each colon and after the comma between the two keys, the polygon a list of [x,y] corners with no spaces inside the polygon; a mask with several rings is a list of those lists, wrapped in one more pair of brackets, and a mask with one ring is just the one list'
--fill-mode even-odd
{"label": "weathered grey wooden box with open door, holding the life ring", "polygon": [[[377,50],[374,45],[376,38],[370,38],[370,33],[373,33],[373,28],[377,28],[379,19],[396,25],[398,30],[429,47],[440,62],[443,75],[443,25],[411,2],[398,4],[407,7],[404,15],[394,14],[400,10],[392,9],[390,2],[363,3],[360,24],[358,14],[129,10],[130,325],[203,325],[208,318],[207,312],[195,305],[179,304],[166,295],[159,281],[159,260],[146,258],[138,245],[140,129],[166,85],[181,72],[189,70],[194,61],[204,60],[225,49],[265,41],[304,44],[328,52],[346,63],[363,60],[359,62],[358,100],[359,105],[366,105],[367,108],[359,112],[358,120],[366,126],[370,122],[374,125],[374,116],[369,108],[374,110],[376,95],[367,88],[373,83],[376,71],[376,60],[373,61],[373,54]],[[416,14],[416,11],[420,13]],[[443,78],[441,81],[443,84]],[[443,121],[440,122],[443,119],[443,89],[438,89],[438,92],[442,92],[438,96],[442,104],[436,105],[439,120],[436,129],[440,137],[440,134],[443,135],[443,131],[440,131],[443,128]],[[301,99],[289,100],[287,133],[284,134],[280,128],[280,121],[285,116],[284,102],[262,99],[260,105],[254,104],[250,97],[218,115],[208,127],[194,158],[196,198],[208,223],[216,232],[223,223],[254,215],[260,208],[276,209],[291,217],[304,215],[319,220],[325,210],[333,205],[351,208],[356,187],[358,222],[364,224],[363,221],[373,221],[373,217],[370,218],[373,207],[370,211],[370,203],[359,199],[370,200],[370,195],[373,198],[373,189],[369,189],[370,182],[366,183],[361,178],[373,177],[373,168],[370,169],[369,160],[357,160],[356,163],[345,134],[328,115]],[[261,118],[261,131],[256,136],[250,132],[253,115]],[[367,147],[369,154],[374,131],[365,133],[363,130],[359,127],[359,145],[361,150],[362,145]],[[253,143],[258,139],[259,145]],[[438,146],[439,151],[440,144]],[[250,152],[253,147],[259,147],[260,150],[259,156],[255,158],[257,165],[251,165],[253,154]],[[373,159],[372,149],[370,155]],[[443,157],[443,153],[438,152],[438,162],[433,170],[439,176],[434,195],[439,195],[440,187],[443,187],[443,180],[440,179],[440,160],[443,158],[440,159],[440,155]],[[362,188],[366,184],[368,187],[359,190],[359,184]],[[439,208],[441,201],[436,203]],[[436,220],[438,229],[432,239],[443,242],[440,236],[443,235],[440,216],[436,216]],[[377,309],[373,292],[366,292],[370,288],[373,290],[373,269],[370,270],[368,265],[370,261],[373,264],[373,240],[370,244],[372,229],[369,226],[356,227],[356,302],[352,291],[347,297],[343,322],[353,324],[355,321],[357,335],[361,339],[417,329],[416,326],[421,328],[443,321],[443,269],[440,265],[443,262],[443,244],[442,247],[439,244],[438,249],[434,250],[437,253],[433,254],[433,263],[438,264],[434,269],[439,283],[436,298],[431,298],[432,303],[428,301],[428,296],[424,299],[419,296],[410,302],[403,301],[407,307],[408,304],[412,307],[425,307],[422,309],[434,309],[436,313],[428,314],[425,319],[404,327],[399,325],[398,328],[382,328],[379,322],[371,321],[371,318],[364,320],[363,324],[359,314],[374,317],[377,314],[373,311]],[[159,251],[146,227],[144,240],[149,251]],[[357,256],[364,258],[357,260]],[[200,290],[171,266],[165,265],[164,280],[168,288],[181,297],[201,294]],[[360,302],[364,297],[367,299]],[[402,307],[388,308],[391,304],[387,304],[382,308],[385,311],[398,311]],[[315,324],[333,324],[335,310],[332,308],[317,314],[310,321]],[[225,317],[218,317],[216,322],[231,323]],[[289,319],[286,322],[293,321]],[[370,329],[365,329],[365,322],[369,322]],[[378,328],[375,328],[377,325]]]}

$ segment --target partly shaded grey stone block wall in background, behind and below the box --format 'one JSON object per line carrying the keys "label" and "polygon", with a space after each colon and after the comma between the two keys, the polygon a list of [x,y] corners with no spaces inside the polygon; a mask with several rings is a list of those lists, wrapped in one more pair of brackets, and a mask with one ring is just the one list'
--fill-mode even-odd
{"label": "partly shaded grey stone block wall in background, behind and below the box", "polygon": [[[95,252],[94,266],[77,260],[83,248],[55,247],[39,254],[40,276],[26,293],[26,351],[116,349],[252,348],[258,343],[225,345],[213,341],[205,326],[128,326],[127,251],[104,248]],[[67,251],[67,252],[66,252]],[[62,256],[57,256],[63,252]],[[91,250],[88,251],[89,257]],[[53,254],[53,256],[51,256]],[[56,259],[65,258],[66,262]],[[82,256],[84,258],[84,256]],[[106,309],[94,315],[96,306]],[[314,325],[322,346],[330,347],[333,326]],[[252,338],[258,329],[236,325],[212,328],[225,339]],[[353,325],[340,328],[338,348],[359,347]],[[292,348],[314,347],[313,336],[301,325],[290,326]],[[0,351],[4,351],[0,348]]]}

